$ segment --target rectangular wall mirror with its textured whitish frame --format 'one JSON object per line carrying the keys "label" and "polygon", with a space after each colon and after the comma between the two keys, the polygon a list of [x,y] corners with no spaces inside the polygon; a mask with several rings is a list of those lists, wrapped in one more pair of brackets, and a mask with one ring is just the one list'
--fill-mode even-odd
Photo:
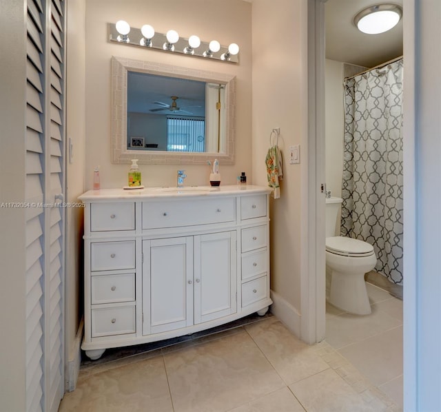
{"label": "rectangular wall mirror with its textured whitish frame", "polygon": [[112,57],[112,163],[234,164],[235,78]]}

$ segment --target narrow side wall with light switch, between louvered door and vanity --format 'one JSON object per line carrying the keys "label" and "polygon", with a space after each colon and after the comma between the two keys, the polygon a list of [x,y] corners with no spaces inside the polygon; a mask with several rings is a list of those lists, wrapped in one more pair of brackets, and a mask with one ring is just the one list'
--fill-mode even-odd
{"label": "narrow side wall with light switch, between louvered door and vanity", "polygon": [[[85,187],[85,0],[69,1],[67,6],[66,196],[68,202],[75,203]],[[66,209],[66,222],[65,360],[77,362],[80,342],[75,339],[83,313],[83,209]],[[66,375],[69,378],[69,371]],[[69,382],[71,389],[72,383]]]}

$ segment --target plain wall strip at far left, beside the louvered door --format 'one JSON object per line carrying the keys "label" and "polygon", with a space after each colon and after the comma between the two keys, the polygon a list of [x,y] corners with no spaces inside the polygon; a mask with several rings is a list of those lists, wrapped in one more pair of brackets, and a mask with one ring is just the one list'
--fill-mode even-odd
{"label": "plain wall strip at far left, beside the louvered door", "polygon": [[[0,0],[0,203],[25,198],[25,8]],[[25,212],[0,207],[0,409],[25,411]]]}

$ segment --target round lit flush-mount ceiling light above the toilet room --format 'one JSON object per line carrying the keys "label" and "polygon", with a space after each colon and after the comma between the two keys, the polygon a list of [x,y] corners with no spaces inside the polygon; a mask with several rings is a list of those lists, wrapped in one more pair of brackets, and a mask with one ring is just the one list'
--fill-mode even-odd
{"label": "round lit flush-mount ceiling light above the toilet room", "polygon": [[358,30],[367,34],[379,34],[391,30],[402,17],[402,7],[384,3],[365,8],[353,18]]}

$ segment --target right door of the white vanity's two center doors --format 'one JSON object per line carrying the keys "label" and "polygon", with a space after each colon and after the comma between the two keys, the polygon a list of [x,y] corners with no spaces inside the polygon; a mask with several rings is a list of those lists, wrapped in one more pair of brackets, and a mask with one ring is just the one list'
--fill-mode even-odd
{"label": "right door of the white vanity's two center doors", "polygon": [[236,313],[236,231],[194,236],[194,323]]}

